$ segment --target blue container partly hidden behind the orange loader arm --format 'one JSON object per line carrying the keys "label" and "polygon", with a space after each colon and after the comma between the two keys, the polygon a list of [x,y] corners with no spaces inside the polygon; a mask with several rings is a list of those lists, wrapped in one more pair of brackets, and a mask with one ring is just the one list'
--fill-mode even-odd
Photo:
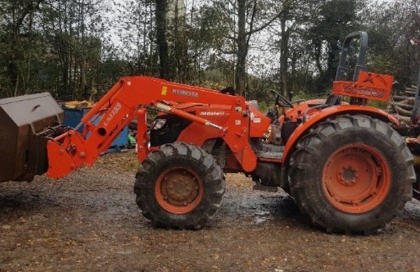
{"label": "blue container partly hidden behind the orange loader arm", "polygon": [[[70,127],[76,127],[83,118],[84,115],[90,110],[90,108],[68,108],[66,106],[62,106],[64,110],[64,125]],[[83,128],[79,128],[78,131],[81,132]],[[116,139],[111,143],[110,148],[119,148],[121,146],[128,145],[128,127],[124,127],[121,133],[116,137]]]}

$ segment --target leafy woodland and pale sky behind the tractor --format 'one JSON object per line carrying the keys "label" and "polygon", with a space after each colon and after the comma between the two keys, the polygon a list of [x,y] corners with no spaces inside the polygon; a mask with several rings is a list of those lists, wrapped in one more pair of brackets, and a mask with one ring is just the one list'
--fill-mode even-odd
{"label": "leafy woodland and pale sky behind the tractor", "polygon": [[[167,0],[171,80],[237,87],[235,77],[245,69],[243,94],[261,105],[272,103],[269,89],[292,91],[294,99],[326,97],[343,38],[366,30],[367,68],[394,75],[400,87],[415,83],[420,47],[409,40],[420,38],[418,0],[240,2],[245,40],[238,36],[238,1]],[[58,99],[98,99],[121,76],[158,76],[155,4],[0,0],[0,97],[50,91]],[[357,50],[353,44],[349,65]]]}

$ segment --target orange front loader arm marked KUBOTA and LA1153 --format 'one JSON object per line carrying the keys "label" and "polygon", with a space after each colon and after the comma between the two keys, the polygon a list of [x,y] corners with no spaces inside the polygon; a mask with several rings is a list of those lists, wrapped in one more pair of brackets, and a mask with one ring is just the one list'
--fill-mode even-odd
{"label": "orange front loader arm marked KUBOTA and LA1153", "polygon": [[[225,123],[214,124],[165,101],[224,104],[230,106]],[[81,165],[92,165],[135,116],[138,117],[139,159],[149,152],[146,138],[146,110],[156,108],[220,131],[245,171],[256,166],[256,155],[249,144],[249,110],[242,96],[211,89],[178,84],[146,76],[124,77],[118,81],[82,118],[76,129],[68,130],[47,142],[48,171],[63,177]],[[82,133],[77,128],[83,127]]]}

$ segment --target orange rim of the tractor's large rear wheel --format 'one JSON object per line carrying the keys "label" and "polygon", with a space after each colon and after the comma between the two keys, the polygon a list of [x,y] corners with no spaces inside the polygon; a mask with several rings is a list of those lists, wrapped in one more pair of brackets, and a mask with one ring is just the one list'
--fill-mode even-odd
{"label": "orange rim of the tractor's large rear wheel", "polygon": [[331,154],[322,171],[322,190],[338,210],[363,213],[378,206],[391,184],[388,163],[375,148],[355,143]]}

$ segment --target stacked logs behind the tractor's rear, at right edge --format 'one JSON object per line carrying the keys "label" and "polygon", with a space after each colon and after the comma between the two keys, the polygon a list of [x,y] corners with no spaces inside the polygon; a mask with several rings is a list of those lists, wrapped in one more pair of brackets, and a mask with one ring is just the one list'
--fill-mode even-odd
{"label": "stacked logs behind the tractor's rear, at right edge", "polygon": [[401,122],[409,123],[414,108],[416,86],[411,85],[401,93],[391,96],[387,111],[395,115]]}

